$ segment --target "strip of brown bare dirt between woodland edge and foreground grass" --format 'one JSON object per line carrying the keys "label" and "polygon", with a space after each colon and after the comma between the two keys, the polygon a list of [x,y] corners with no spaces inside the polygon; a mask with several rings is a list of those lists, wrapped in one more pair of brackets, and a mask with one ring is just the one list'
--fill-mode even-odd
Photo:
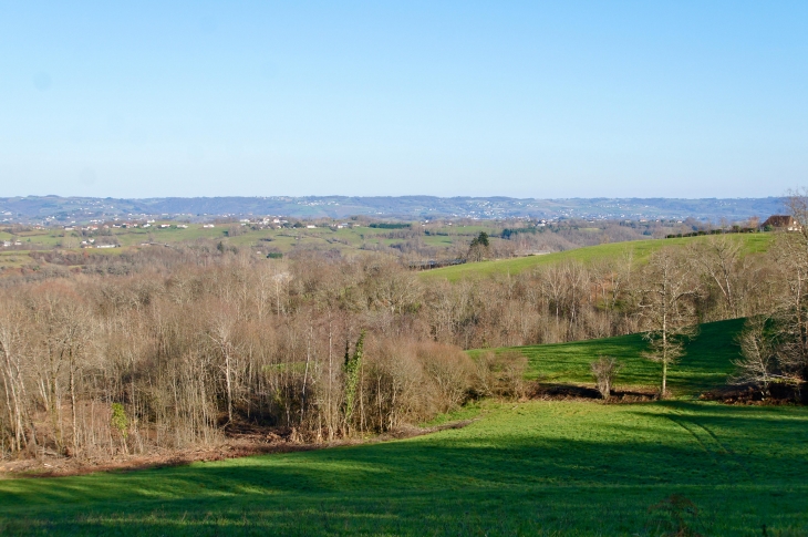
{"label": "strip of brown bare dirt between woodland edge and foreground grass", "polygon": [[331,443],[303,442],[293,428],[234,427],[228,438],[214,446],[173,450],[149,455],[118,456],[104,459],[73,457],[40,457],[19,461],[0,461],[0,478],[64,477],[94,472],[133,472],[138,469],[183,466],[197,461],[224,461],[226,458],[263,455],[269,453],[304,452],[344,445],[369,444],[389,440],[408,438],[448,428],[463,428],[475,420],[445,423],[433,427],[404,426],[381,435],[364,438],[344,438]]}

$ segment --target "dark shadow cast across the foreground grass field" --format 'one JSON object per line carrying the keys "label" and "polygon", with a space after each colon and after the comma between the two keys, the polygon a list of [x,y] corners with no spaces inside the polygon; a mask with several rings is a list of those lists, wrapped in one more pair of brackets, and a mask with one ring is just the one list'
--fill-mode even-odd
{"label": "dark shadow cast across the foreground grass field", "polygon": [[714,515],[707,535],[808,523],[808,475],[738,483],[723,467],[705,473],[713,462],[697,446],[504,443],[391,443],[277,464],[37,479],[0,513],[10,534],[613,535],[642,529],[646,508],[676,492]]}

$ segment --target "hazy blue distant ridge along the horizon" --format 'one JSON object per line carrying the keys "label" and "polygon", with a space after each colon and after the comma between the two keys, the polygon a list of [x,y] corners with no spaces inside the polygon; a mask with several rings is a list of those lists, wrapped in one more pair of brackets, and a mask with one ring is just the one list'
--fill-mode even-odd
{"label": "hazy blue distant ridge along the horizon", "polygon": [[509,197],[169,197],[116,199],[27,196],[0,198],[0,221],[53,217],[60,220],[99,217],[279,215],[299,218],[343,218],[365,215],[380,218],[601,218],[743,220],[783,213],[783,198],[570,198]]}

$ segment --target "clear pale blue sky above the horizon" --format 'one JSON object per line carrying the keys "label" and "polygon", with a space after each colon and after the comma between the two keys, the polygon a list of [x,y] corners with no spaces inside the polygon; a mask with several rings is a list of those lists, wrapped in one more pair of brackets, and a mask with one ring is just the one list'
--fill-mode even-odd
{"label": "clear pale blue sky above the horizon", "polygon": [[0,197],[806,184],[805,0],[0,0]]}

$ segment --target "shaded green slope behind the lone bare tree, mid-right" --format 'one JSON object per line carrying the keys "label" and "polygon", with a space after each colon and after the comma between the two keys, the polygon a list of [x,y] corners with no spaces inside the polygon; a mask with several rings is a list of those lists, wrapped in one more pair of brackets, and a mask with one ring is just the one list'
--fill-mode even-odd
{"label": "shaded green slope behind the lone bare tree, mid-right", "polygon": [[[739,358],[735,338],[744,328],[744,319],[702,324],[698,334],[686,345],[680,363],[669,370],[669,388],[674,395],[698,395],[705,390],[726,384],[733,372],[732,360]],[[599,355],[609,355],[622,363],[618,386],[659,386],[661,365],[642,358],[646,349],[642,334],[621,335],[572,343],[515,347],[528,358],[529,379],[548,383],[593,384],[589,364]],[[483,351],[472,351],[473,355]]]}

